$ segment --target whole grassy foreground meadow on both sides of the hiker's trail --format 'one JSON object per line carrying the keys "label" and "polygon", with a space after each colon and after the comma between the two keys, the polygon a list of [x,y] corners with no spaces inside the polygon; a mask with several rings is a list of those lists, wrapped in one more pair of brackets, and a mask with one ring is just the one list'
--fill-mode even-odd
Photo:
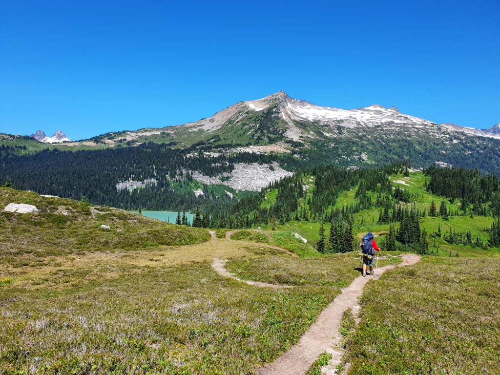
{"label": "whole grassy foreground meadow on both sides of the hiker's trail", "polygon": [[[39,211],[0,213],[0,374],[254,374],[359,276],[356,253],[318,254],[288,227],[211,236],[0,188],[0,207],[12,201]],[[369,282],[360,323],[346,315],[340,330],[339,369],[497,373],[500,276],[491,257],[473,255],[422,256]],[[222,277],[213,258],[241,280],[294,287]]]}

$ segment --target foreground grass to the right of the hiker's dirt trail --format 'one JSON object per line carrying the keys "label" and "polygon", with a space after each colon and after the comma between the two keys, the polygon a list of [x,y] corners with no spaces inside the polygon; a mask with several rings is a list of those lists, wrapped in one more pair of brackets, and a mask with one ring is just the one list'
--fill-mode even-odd
{"label": "foreground grass to the right of the hiker's dirt trail", "polygon": [[424,257],[368,283],[348,373],[497,373],[497,268],[488,258]]}

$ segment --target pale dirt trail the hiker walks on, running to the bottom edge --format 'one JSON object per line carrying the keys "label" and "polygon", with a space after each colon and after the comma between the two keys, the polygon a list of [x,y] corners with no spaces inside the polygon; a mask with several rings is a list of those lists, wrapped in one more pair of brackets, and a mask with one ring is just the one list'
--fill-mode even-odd
{"label": "pale dirt trail the hiker walks on, running to the bottom edge", "polygon": [[[411,265],[420,260],[416,254],[402,255],[403,261],[398,266]],[[338,328],[342,314],[347,308],[353,307],[362,293],[363,286],[371,279],[393,269],[394,265],[378,268],[375,276],[359,276],[351,284],[342,289],[342,292],[326,308],[321,311],[316,321],[300,337],[300,340],[287,352],[283,353],[273,363],[262,366],[257,375],[302,375],[317,359],[319,354],[329,352],[332,359],[328,364],[333,368],[340,364],[341,349]],[[331,372],[334,373],[334,372]]]}

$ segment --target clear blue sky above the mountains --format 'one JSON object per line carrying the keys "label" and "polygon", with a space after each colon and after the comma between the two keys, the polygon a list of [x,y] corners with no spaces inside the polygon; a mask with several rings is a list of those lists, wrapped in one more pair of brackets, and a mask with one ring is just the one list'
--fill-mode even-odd
{"label": "clear blue sky above the mountains", "polygon": [[500,2],[0,0],[0,132],[175,125],[279,91],[500,121]]}

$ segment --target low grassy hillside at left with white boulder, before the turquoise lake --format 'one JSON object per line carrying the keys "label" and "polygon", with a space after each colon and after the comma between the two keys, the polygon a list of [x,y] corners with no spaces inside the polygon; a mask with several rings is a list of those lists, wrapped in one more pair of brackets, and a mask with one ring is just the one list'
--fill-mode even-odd
{"label": "low grassy hillside at left with white boulder, before the turquoise lake", "polygon": [[[33,204],[39,211],[5,212],[3,208],[8,203]],[[116,208],[6,187],[0,188],[0,208],[0,257],[14,264],[47,255],[128,251],[192,244],[210,238],[205,229],[167,224]],[[108,225],[109,229],[101,225]]]}

